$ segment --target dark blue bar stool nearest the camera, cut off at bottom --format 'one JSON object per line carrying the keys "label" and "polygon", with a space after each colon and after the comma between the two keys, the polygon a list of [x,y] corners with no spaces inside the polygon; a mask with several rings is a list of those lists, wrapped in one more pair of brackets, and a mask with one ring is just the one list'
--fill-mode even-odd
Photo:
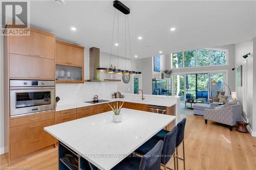
{"label": "dark blue bar stool nearest the camera, cut off at bottom", "polygon": [[[160,169],[161,163],[161,152],[163,148],[163,141],[159,140],[154,147],[148,151],[143,157],[131,154],[130,156],[124,158],[111,170],[148,170]],[[97,170],[98,168],[89,162],[92,170]]]}

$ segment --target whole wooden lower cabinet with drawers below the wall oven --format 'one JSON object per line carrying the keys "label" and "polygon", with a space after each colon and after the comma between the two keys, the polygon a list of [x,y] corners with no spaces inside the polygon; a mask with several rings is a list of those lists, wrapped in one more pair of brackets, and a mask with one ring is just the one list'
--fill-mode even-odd
{"label": "whole wooden lower cabinet with drawers below the wall oven", "polygon": [[55,143],[44,127],[55,124],[54,112],[10,119],[10,159],[38,151]]}

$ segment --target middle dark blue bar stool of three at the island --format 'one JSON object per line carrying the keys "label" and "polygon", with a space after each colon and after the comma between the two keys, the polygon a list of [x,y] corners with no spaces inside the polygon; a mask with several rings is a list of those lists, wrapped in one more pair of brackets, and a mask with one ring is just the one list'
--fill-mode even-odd
{"label": "middle dark blue bar stool of three at the island", "polygon": [[[162,157],[161,157],[161,165],[164,167],[164,170],[171,169],[166,166],[170,158],[174,158],[174,169],[176,170],[176,161],[174,157],[175,147],[176,147],[176,136],[177,136],[178,127],[174,127],[172,131],[167,131],[168,133],[164,136],[163,139],[163,149],[162,149]],[[155,143],[159,140],[151,138],[147,140],[144,144],[141,145],[135,152],[141,155],[144,155],[148,151],[150,151]]]}

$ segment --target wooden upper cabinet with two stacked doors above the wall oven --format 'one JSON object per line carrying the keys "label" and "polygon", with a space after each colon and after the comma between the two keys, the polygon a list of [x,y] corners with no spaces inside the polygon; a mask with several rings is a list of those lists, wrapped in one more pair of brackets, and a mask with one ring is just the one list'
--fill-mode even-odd
{"label": "wooden upper cabinet with two stacked doors above the wall oven", "polygon": [[30,28],[29,36],[8,36],[5,42],[10,79],[55,80],[54,34]]}

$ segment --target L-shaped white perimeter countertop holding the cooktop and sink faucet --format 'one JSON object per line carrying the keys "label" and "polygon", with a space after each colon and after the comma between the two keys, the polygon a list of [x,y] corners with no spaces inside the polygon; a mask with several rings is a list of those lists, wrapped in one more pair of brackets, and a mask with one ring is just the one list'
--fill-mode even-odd
{"label": "L-shaped white perimeter countertop holding the cooktop and sink faucet", "polygon": [[[172,102],[170,102],[168,100],[161,100],[160,101],[160,100],[157,100],[157,99],[154,100],[154,101],[149,101],[147,99],[145,99],[144,101],[141,101],[141,100],[125,99],[125,98],[104,99],[104,100],[109,100],[109,102],[121,101],[121,102],[131,102],[131,103],[139,103],[139,104],[145,104],[145,105],[164,106],[164,107],[171,107],[171,106],[174,106],[176,104],[176,102],[174,102],[174,101],[172,101]],[[78,103],[57,105],[56,111],[74,109],[74,108],[86,107],[86,106],[93,106],[93,105],[104,104],[104,103],[109,103],[109,102],[102,102],[102,103],[95,103],[95,104],[78,102]]]}

